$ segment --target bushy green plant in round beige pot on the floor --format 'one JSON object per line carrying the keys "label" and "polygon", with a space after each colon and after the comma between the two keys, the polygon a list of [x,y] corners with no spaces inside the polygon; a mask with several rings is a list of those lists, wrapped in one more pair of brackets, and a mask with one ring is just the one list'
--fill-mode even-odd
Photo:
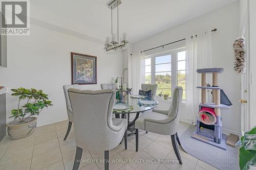
{"label": "bushy green plant in round beige pot on the floor", "polygon": [[[42,109],[52,106],[52,102],[42,90],[18,88],[11,91],[18,98],[18,106],[11,111],[10,117],[14,117],[14,120],[7,124],[7,131],[11,139],[22,139],[35,131],[37,117],[31,116],[39,115]],[[24,101],[25,104],[20,106]],[[26,115],[28,116],[25,117]]]}

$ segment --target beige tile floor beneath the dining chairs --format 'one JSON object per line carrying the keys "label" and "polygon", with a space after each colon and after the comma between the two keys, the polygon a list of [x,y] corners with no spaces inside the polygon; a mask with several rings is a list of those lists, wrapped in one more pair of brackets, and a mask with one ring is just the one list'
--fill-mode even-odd
{"label": "beige tile floor beneath the dining chairs", "polygon": [[[47,126],[38,127],[36,132],[19,140],[11,140],[6,136],[0,142],[0,169],[27,170],[27,169],[72,169],[75,156],[74,128],[66,141],[63,141],[67,131],[68,121],[63,121]],[[179,135],[189,127],[188,124],[180,123]],[[131,160],[176,160],[169,136],[158,135],[143,131],[140,132],[139,152],[135,151],[135,135],[128,137],[128,149],[124,150],[124,142],[110,152],[110,158],[121,160],[118,163],[110,163],[110,169],[186,169],[203,170],[216,169],[197,158],[188,155],[180,148],[183,164],[179,163],[124,163],[126,159]],[[93,154],[83,151],[82,159],[103,159],[103,152]],[[81,163],[80,169],[104,169],[103,163],[86,162]]]}

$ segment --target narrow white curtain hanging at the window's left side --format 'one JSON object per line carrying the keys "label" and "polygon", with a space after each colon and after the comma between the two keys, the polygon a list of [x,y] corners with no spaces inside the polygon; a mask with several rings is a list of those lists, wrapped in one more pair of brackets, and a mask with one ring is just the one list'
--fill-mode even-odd
{"label": "narrow white curtain hanging at the window's left side", "polygon": [[141,89],[141,83],[144,82],[145,78],[145,54],[144,53],[134,53],[132,55],[132,94],[139,94]]}

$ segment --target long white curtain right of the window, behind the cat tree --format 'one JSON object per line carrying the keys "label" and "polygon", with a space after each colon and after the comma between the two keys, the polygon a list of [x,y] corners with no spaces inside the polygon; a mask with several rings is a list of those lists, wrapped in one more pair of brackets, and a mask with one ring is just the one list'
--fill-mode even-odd
{"label": "long white curtain right of the window, behind the cat tree", "polygon": [[[186,117],[196,122],[201,96],[196,88],[200,85],[200,74],[196,70],[212,67],[211,31],[186,37],[186,59]],[[206,77],[206,80],[209,79]]]}

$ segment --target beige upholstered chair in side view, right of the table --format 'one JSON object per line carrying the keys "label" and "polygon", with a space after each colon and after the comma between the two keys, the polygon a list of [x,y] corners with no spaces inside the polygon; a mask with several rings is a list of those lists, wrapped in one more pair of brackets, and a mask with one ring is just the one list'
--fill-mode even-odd
{"label": "beige upholstered chair in side view, right of the table", "polygon": [[[176,86],[173,92],[173,102],[169,110],[153,109],[151,112],[141,114],[135,122],[136,129],[136,151],[139,148],[139,129],[161,135],[170,135],[175,154],[182,164],[177,141],[178,126],[180,119],[180,106],[182,102],[182,87]],[[176,141],[177,140],[177,141]]]}

